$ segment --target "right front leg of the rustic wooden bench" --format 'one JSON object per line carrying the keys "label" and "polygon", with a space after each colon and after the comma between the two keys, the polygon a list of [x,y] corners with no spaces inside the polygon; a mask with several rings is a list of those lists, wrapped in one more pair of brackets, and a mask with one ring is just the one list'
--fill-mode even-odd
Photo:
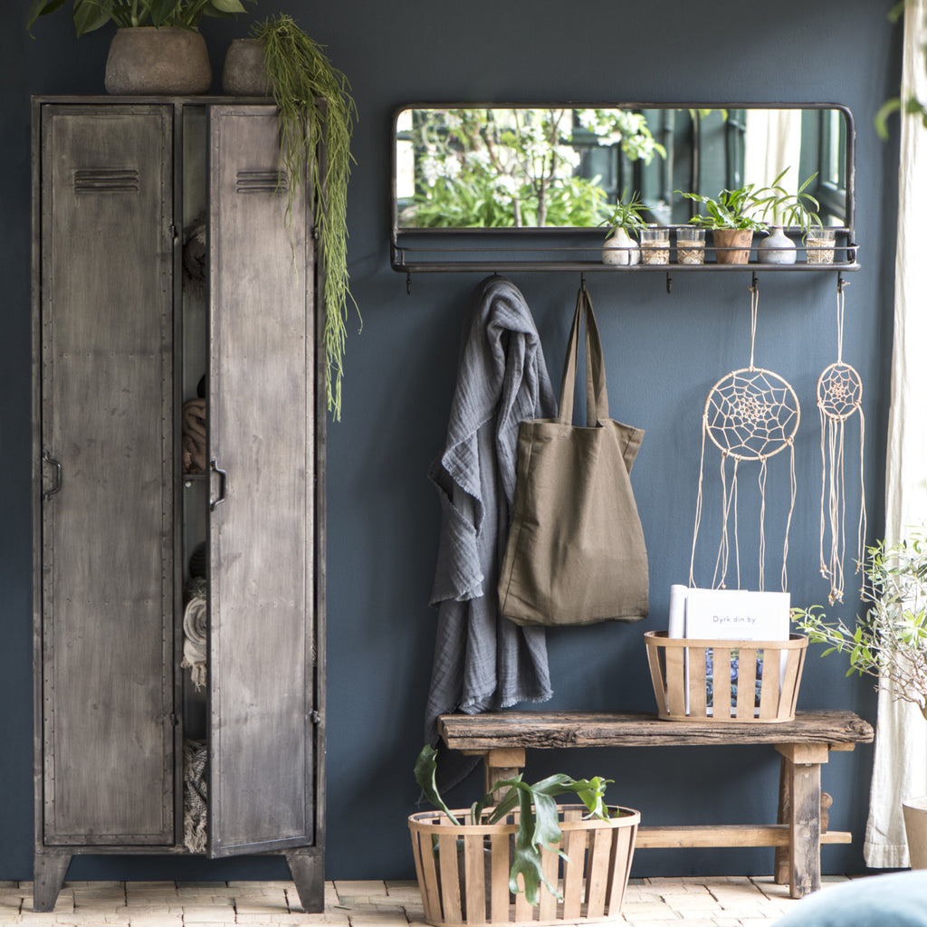
{"label": "right front leg of the rustic wooden bench", "polygon": [[789,894],[801,898],[820,888],[820,764],[827,762],[827,744],[787,743],[776,749],[785,779],[780,794],[784,789],[791,799],[783,809],[783,823],[789,825]]}

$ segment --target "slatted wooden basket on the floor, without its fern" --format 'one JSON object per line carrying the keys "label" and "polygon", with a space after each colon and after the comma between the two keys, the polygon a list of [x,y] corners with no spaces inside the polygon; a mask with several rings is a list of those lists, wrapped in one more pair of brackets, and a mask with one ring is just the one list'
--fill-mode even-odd
{"label": "slatted wooden basket on the floor, without its fern", "polygon": [[[491,810],[491,809],[490,809]],[[524,892],[509,891],[517,813],[498,824],[464,823],[468,810],[452,811],[455,827],[434,811],[413,814],[415,872],[425,921],[435,927],[463,924],[563,924],[606,921],[619,916],[634,854],[641,815],[610,806],[610,820],[583,819],[581,805],[560,806],[561,844],[542,851],[548,882],[558,885],[558,899],[541,884],[532,907]],[[563,850],[567,859],[558,855]],[[520,877],[519,877],[520,878]]]}

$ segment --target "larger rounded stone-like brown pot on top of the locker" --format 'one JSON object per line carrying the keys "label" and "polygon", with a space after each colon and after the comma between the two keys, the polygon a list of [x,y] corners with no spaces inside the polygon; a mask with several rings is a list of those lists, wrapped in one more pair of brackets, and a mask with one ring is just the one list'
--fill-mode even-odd
{"label": "larger rounded stone-like brown pot on top of the locker", "polygon": [[108,94],[205,94],[211,85],[210,56],[199,32],[139,26],[113,36],[107,58]]}

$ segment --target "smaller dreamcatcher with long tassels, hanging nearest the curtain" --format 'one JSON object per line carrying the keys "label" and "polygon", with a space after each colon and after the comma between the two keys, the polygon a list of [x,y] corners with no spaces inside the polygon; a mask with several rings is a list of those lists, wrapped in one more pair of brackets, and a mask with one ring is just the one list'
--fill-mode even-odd
{"label": "smaller dreamcatcher with long tassels, hanging nearest the curtain", "polygon": [[[863,384],[857,372],[843,362],[844,356],[844,287],[837,285],[837,362],[832,363],[818,380],[820,413],[820,575],[829,580],[828,601],[844,601],[844,552],[846,535],[846,482],[844,477],[844,423],[859,413],[859,522],[857,525],[857,572],[866,537],[866,495],[863,486],[863,440],[866,419],[863,416]],[[825,504],[826,497],[826,504]],[[826,516],[825,516],[826,510]],[[830,529],[830,558],[825,563],[825,540]]]}

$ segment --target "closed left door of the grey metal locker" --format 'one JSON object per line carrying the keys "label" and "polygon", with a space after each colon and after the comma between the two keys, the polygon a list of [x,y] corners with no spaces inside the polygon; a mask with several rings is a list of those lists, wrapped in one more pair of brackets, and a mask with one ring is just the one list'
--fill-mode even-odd
{"label": "closed left door of the grey metal locker", "polygon": [[46,844],[172,844],[171,109],[42,108]]}

